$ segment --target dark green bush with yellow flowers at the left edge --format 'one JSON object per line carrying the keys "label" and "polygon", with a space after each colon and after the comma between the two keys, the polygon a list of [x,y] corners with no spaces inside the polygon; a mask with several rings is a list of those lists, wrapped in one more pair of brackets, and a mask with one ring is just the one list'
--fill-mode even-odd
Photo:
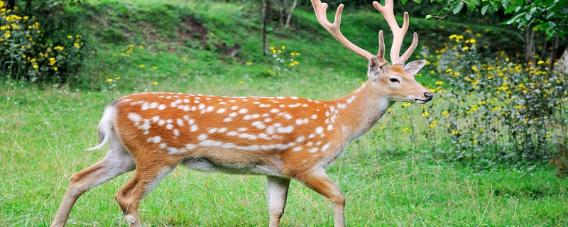
{"label": "dark green bush with yellow flowers at the left edge", "polygon": [[0,72],[9,79],[62,83],[75,79],[84,39],[59,1],[28,1],[6,9],[0,1]]}

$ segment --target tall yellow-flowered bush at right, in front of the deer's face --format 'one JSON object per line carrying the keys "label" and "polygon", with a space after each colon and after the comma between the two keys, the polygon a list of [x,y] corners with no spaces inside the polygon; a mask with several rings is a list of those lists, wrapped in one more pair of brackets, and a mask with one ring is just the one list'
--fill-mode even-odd
{"label": "tall yellow-flowered bush at right, in front of the deer's face", "polygon": [[452,143],[442,155],[481,167],[550,160],[568,138],[565,75],[547,60],[521,64],[503,52],[482,58],[476,35],[467,34],[450,36],[447,48],[429,55],[447,84],[431,89],[439,100],[422,116],[431,133]]}

